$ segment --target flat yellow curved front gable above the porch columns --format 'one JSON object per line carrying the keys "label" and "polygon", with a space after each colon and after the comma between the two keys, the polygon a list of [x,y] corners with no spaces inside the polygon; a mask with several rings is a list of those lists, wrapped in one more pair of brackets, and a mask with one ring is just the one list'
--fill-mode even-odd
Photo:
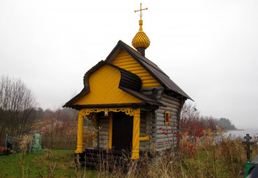
{"label": "flat yellow curved front gable above the porch columns", "polygon": [[89,77],[90,92],[73,105],[98,105],[116,103],[144,103],[119,89],[121,73],[112,66],[105,65]]}

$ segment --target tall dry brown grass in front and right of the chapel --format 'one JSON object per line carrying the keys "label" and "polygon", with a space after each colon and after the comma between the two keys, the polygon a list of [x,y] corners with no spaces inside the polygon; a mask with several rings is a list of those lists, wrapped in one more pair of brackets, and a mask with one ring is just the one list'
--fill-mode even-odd
{"label": "tall dry brown grass in front and right of the chapel", "polygon": [[[204,131],[204,136],[195,142],[187,138],[182,135],[179,152],[167,152],[162,158],[127,158],[126,165],[120,167],[114,166],[109,158],[100,164],[98,177],[243,177],[246,151],[241,138],[233,140],[223,136],[222,142],[215,142],[215,133],[211,131]],[[257,144],[251,149],[254,158]],[[125,167],[128,168],[126,172]]]}

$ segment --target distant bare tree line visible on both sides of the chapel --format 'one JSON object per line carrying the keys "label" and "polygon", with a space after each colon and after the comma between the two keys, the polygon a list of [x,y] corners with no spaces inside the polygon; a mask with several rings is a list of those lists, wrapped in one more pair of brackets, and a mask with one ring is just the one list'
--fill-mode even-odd
{"label": "distant bare tree line visible on both sides of the chapel", "polygon": [[[8,76],[0,78],[0,141],[1,135],[20,136],[35,131],[45,131],[46,135],[75,135],[78,112],[71,108],[43,110],[36,107],[36,99],[31,89],[22,80],[11,79]],[[44,122],[45,121],[45,122]],[[44,124],[42,124],[44,123]],[[41,125],[40,125],[41,124]],[[85,126],[92,126],[88,119]],[[181,110],[180,128],[192,128],[192,131],[211,129],[217,126],[222,129],[236,129],[229,119],[202,117],[195,105],[185,103]],[[73,128],[73,133],[68,133]]]}

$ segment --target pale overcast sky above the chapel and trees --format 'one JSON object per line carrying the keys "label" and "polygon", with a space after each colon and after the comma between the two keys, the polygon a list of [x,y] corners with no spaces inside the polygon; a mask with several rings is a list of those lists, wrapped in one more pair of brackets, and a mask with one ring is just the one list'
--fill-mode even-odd
{"label": "pale overcast sky above the chapel and trees", "polygon": [[258,128],[258,1],[1,0],[0,75],[20,78],[57,109],[119,40],[131,46],[143,11],[146,57],[204,116]]}

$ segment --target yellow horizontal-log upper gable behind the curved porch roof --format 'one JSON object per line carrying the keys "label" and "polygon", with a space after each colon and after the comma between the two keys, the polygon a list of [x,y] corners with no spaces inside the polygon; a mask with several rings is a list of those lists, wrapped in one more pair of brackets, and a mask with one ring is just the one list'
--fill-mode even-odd
{"label": "yellow horizontal-log upper gable behind the curved porch roof", "polygon": [[126,50],[122,50],[120,54],[112,62],[115,66],[119,66],[126,71],[135,73],[142,80],[142,88],[146,87],[160,87],[160,83],[155,80],[151,74],[146,71],[135,59],[133,59]]}

